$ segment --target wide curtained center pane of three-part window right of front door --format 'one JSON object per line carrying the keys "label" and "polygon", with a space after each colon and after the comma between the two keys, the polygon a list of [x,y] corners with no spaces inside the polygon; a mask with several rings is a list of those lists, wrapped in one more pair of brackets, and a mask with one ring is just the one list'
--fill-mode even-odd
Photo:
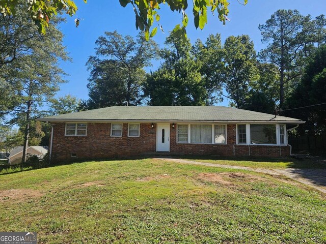
{"label": "wide curtained center pane of three-part window right of front door", "polygon": [[191,143],[212,143],[211,125],[190,125]]}

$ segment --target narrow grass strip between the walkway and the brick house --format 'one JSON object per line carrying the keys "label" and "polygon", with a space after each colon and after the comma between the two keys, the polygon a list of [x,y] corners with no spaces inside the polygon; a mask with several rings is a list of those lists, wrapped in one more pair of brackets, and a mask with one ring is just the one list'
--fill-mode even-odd
{"label": "narrow grass strip between the walkway and the brick house", "polygon": [[286,169],[286,168],[326,168],[325,164],[315,162],[313,160],[297,160],[292,158],[285,159],[268,159],[252,157],[250,160],[247,158],[218,158],[218,157],[186,157],[185,159],[212,163],[212,164],[224,164],[234,166],[245,166],[251,168],[264,168],[264,169]]}

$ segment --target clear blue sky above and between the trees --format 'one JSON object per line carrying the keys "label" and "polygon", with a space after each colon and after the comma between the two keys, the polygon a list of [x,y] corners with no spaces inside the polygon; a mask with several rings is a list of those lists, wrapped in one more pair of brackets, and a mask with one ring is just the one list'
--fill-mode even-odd
{"label": "clear blue sky above and between the trees", "polygon": [[[191,2],[191,1],[189,1]],[[259,51],[264,48],[260,42],[259,24],[265,21],[278,9],[297,9],[303,15],[310,14],[313,18],[326,14],[326,0],[249,0],[246,6],[240,5],[237,0],[229,0],[231,20],[224,26],[217,18],[209,14],[208,25],[203,31],[194,27],[192,19],[192,6],[186,10],[189,16],[187,34],[192,43],[196,39],[205,41],[209,34],[220,33],[222,41],[228,36],[248,34],[254,41],[255,49]],[[67,17],[67,22],[60,25],[64,33],[64,45],[67,47],[72,62],[61,63],[61,67],[69,74],[66,79],[68,83],[61,85],[59,96],[73,95],[80,99],[88,98],[86,87],[89,72],[86,69],[86,62],[90,55],[94,55],[95,41],[103,35],[105,31],[117,30],[122,35],[136,36],[138,31],[135,29],[135,17],[131,6],[123,8],[118,0],[88,0],[84,4],[82,0],[75,0],[78,6],[77,17],[80,25],[74,25],[76,16]],[[165,34],[157,32],[154,40],[162,47],[168,32],[174,26],[181,23],[181,15],[177,12],[172,13],[168,6],[163,6],[160,10],[160,24],[163,26]],[[153,62],[153,66],[146,70],[155,70],[159,66],[159,61]],[[228,105],[225,100],[219,105]]]}

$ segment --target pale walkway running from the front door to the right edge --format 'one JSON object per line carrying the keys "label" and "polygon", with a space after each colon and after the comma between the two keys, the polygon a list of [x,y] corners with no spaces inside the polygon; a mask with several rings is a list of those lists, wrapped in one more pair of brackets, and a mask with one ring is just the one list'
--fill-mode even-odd
{"label": "pale walkway running from the front door to the right edge", "polygon": [[296,168],[261,169],[261,168],[245,167],[245,166],[204,163],[204,162],[197,162],[197,161],[191,161],[185,159],[173,159],[173,158],[156,158],[156,159],[183,163],[183,164],[204,165],[209,167],[243,169],[243,170],[250,170],[250,171],[255,171],[255,172],[265,173],[270,175],[283,175],[288,178],[294,179],[298,182],[301,182],[302,184],[310,186],[322,193],[326,193],[326,169],[296,169]]}

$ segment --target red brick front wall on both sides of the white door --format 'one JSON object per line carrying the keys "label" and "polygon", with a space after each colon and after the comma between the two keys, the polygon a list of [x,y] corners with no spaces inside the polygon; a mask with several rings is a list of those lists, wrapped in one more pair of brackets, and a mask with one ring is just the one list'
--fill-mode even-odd
{"label": "red brick front wall on both sides of the white door", "polygon": [[[52,159],[110,158],[153,154],[156,151],[156,124],[140,125],[139,137],[128,137],[123,124],[122,137],[111,137],[110,123],[88,123],[87,136],[65,136],[65,123],[53,124]],[[177,126],[170,126],[170,152],[184,155],[287,157],[289,146],[236,145],[235,125],[227,125],[227,144],[177,143]]]}

